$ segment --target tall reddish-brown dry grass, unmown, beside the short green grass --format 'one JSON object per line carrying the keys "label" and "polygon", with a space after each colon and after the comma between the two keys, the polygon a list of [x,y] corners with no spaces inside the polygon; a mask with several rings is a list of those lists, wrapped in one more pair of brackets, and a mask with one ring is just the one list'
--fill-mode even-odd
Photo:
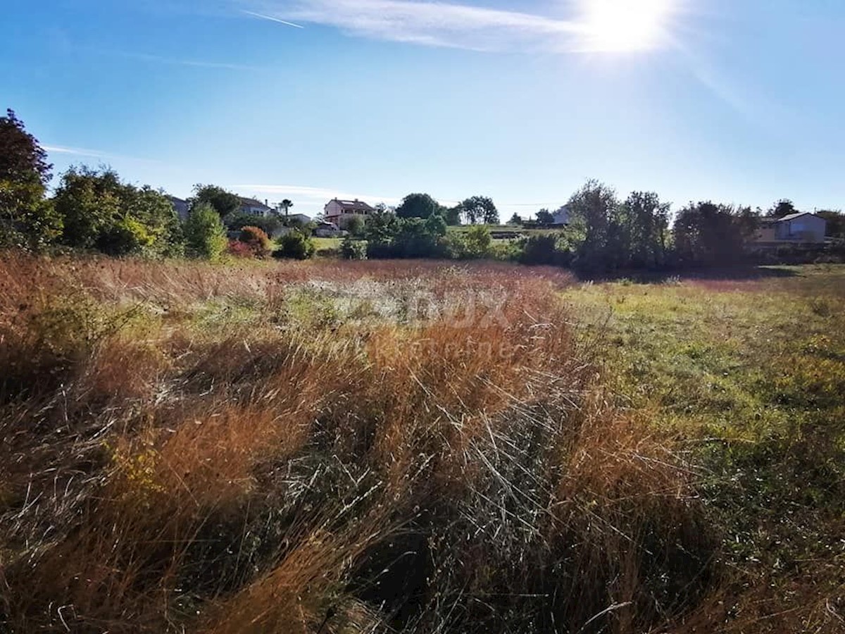
{"label": "tall reddish-brown dry grass, unmown, beside the short green grass", "polygon": [[[635,632],[711,588],[690,467],[608,406],[564,274],[4,255],[0,280],[10,631]],[[362,288],[390,310],[337,309]]]}

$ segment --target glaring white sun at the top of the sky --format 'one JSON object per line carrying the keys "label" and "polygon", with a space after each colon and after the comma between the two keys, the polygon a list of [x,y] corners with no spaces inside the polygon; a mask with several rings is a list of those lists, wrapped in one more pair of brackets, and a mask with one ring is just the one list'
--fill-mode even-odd
{"label": "glaring white sun at the top of the sky", "polygon": [[581,0],[589,51],[633,52],[666,43],[677,0]]}

